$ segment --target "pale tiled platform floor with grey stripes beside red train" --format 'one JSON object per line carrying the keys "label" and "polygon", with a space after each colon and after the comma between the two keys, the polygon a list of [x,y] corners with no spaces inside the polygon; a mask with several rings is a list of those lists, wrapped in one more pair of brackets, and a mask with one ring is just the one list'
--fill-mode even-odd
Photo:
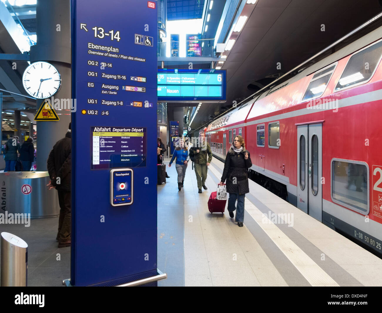
{"label": "pale tiled platform floor with grey stripes beside red train", "polygon": [[[191,164],[181,191],[175,167],[167,167],[170,178],[158,186],[158,256],[163,242],[173,251],[167,253],[165,262],[158,258],[158,268],[168,274],[160,285],[180,284],[183,260],[174,248],[181,248],[180,225],[184,225],[185,286],[382,285],[382,259],[252,181],[245,200],[244,227],[237,226],[227,208],[224,215],[210,214],[207,201],[222,170],[223,163],[213,159],[208,190],[199,194]],[[160,201],[163,196],[167,198],[164,203]],[[164,217],[176,201],[178,210],[184,208],[183,221],[179,211]],[[272,223],[268,217],[274,213],[293,216],[293,227]],[[169,232],[163,226],[170,227]]]}

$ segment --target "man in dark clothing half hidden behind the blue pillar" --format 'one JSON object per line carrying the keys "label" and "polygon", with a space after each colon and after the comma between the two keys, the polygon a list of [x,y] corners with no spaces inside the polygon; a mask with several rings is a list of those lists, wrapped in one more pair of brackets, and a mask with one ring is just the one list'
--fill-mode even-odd
{"label": "man in dark clothing half hidden behind the blue pillar", "polygon": [[62,138],[57,141],[48,157],[48,172],[51,188],[58,191],[60,217],[58,219],[58,248],[69,247],[71,243],[71,123]]}

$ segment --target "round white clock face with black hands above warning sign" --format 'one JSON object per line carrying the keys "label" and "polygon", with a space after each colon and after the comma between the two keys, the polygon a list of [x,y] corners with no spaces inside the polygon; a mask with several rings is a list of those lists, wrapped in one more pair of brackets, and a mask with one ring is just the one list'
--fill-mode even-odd
{"label": "round white clock face with black hands above warning sign", "polygon": [[61,87],[61,76],[48,62],[35,62],[23,74],[23,85],[32,97],[45,99],[53,96]]}

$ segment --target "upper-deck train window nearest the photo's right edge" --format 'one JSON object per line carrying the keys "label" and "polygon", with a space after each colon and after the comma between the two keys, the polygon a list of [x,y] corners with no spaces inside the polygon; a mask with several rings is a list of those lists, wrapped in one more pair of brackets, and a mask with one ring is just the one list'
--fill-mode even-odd
{"label": "upper-deck train window nearest the photo's right edge", "polygon": [[382,57],[382,40],[353,54],[334,91],[364,84],[371,79]]}

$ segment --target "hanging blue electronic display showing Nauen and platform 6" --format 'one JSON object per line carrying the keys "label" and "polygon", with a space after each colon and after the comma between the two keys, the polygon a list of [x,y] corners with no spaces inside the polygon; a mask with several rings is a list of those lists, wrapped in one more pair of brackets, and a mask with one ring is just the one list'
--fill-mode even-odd
{"label": "hanging blue electronic display showing Nauen and platform 6", "polygon": [[157,75],[158,101],[222,101],[225,70],[167,70]]}

